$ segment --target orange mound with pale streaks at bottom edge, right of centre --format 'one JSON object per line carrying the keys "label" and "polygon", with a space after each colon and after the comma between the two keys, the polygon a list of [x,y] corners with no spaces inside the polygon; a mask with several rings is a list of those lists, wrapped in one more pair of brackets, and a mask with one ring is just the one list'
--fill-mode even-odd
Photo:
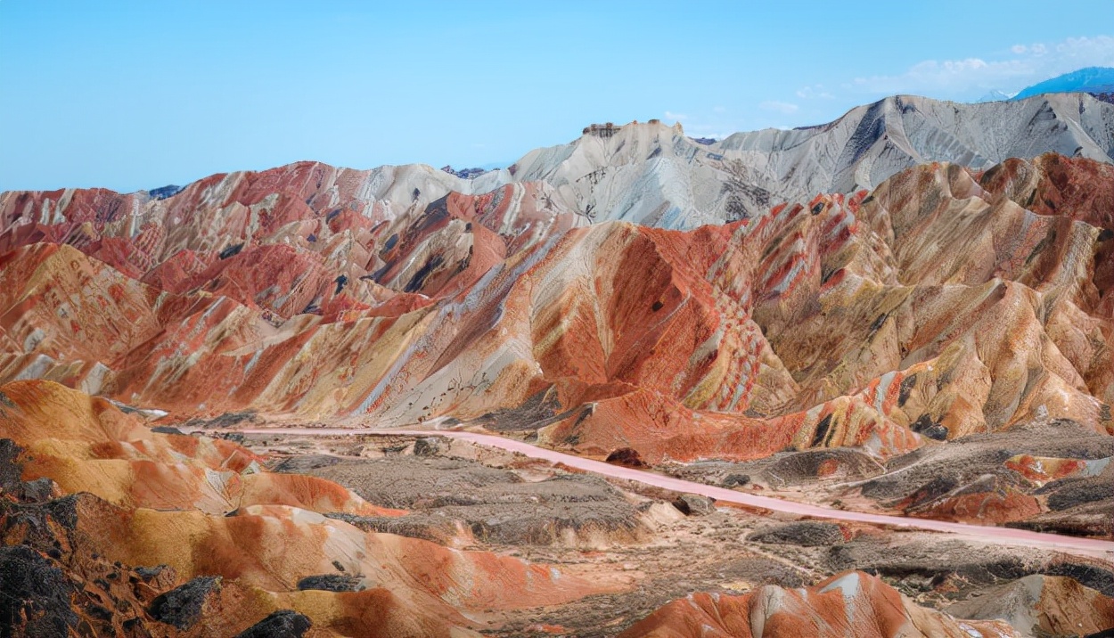
{"label": "orange mound with pale streaks at bottom edge, right of centre", "polygon": [[876,577],[852,571],[814,587],[765,586],[743,596],[693,593],[651,614],[625,638],[890,638],[1017,636],[1003,621],[956,620],[913,605]]}

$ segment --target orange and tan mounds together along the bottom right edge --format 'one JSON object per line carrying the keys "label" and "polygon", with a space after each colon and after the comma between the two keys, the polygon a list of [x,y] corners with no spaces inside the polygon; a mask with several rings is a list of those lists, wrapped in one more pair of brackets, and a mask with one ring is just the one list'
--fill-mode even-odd
{"label": "orange and tan mounds together along the bottom right edge", "polygon": [[1071,578],[1028,576],[952,605],[925,609],[861,571],[813,587],[768,585],[742,596],[694,593],[670,602],[624,637],[751,638],[1105,636],[1114,599]]}

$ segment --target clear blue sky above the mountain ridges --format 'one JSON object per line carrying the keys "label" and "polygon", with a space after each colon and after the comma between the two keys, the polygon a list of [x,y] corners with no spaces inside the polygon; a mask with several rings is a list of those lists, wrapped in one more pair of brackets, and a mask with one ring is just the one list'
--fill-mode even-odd
{"label": "clear blue sky above the mountain ridges", "polygon": [[505,165],[592,122],[829,121],[1114,66],[1114,0],[0,0],[0,189]]}

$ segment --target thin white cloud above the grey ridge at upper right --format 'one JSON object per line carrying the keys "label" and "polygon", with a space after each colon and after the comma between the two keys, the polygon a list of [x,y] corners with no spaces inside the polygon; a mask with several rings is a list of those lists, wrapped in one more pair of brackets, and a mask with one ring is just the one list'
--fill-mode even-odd
{"label": "thin white cloud above the grey ridge at upper right", "polygon": [[1015,45],[998,59],[925,60],[897,76],[856,78],[846,88],[870,94],[971,97],[988,89],[1014,90],[1081,67],[1114,66],[1114,38],[1068,38]]}

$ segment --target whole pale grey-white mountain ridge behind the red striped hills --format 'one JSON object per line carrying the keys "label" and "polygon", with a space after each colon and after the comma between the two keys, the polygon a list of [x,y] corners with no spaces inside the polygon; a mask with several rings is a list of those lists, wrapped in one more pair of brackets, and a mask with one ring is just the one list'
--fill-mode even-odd
{"label": "whole pale grey-white mountain ridge behind the red striped hills", "polygon": [[498,177],[546,181],[593,222],[691,228],[873,188],[926,161],[989,168],[1048,151],[1114,161],[1114,105],[1086,94],[990,104],[896,96],[827,125],[739,132],[712,145],[680,126],[632,124],[532,150],[512,176]]}

